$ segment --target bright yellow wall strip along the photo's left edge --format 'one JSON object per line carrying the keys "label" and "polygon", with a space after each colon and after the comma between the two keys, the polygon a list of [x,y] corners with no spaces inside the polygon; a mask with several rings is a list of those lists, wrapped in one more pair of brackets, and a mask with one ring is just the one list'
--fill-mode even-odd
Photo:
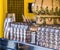
{"label": "bright yellow wall strip along the photo's left edge", "polygon": [[7,12],[7,0],[0,0],[0,38],[3,38],[3,27],[4,27],[4,19],[5,14]]}

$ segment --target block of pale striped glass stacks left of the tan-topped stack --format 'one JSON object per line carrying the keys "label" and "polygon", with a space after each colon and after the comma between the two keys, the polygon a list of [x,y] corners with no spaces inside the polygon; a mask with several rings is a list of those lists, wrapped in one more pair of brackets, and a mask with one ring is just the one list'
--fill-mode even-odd
{"label": "block of pale striped glass stacks left of the tan-topped stack", "polygon": [[26,42],[28,25],[24,23],[13,23],[10,27],[10,40]]}

